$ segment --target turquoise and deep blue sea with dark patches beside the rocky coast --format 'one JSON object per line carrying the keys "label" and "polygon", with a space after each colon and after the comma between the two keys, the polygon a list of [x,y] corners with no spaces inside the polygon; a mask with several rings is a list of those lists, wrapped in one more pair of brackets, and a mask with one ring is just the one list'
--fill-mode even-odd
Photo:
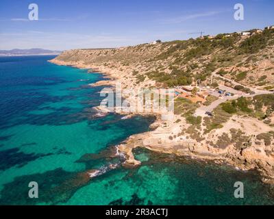
{"label": "turquoise and deep blue sea with dark patches beside the rocky coast", "polygon": [[[54,56],[0,57],[0,205],[273,205],[256,172],[136,149],[138,168],[112,156],[115,145],[149,131],[154,118],[98,118],[99,73],[47,62]],[[115,169],[108,168],[116,164]],[[97,177],[86,177],[90,170]],[[39,198],[29,198],[29,182]],[[234,183],[245,198],[234,198]]]}

